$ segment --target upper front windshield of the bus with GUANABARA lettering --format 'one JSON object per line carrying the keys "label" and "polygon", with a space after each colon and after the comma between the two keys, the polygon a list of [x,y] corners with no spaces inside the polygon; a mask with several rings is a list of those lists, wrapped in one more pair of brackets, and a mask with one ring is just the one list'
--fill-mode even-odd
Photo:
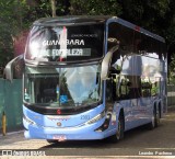
{"label": "upper front windshield of the bus with GUANABARA lettering", "polygon": [[103,57],[104,24],[32,29],[25,59],[80,61]]}

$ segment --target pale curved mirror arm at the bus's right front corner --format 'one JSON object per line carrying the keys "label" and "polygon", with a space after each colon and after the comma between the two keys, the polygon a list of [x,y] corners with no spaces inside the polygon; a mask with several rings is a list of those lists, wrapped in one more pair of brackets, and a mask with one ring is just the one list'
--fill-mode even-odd
{"label": "pale curved mirror arm at the bus's right front corner", "polygon": [[102,61],[102,71],[101,71],[101,79],[102,80],[106,80],[108,78],[112,57],[113,57],[114,52],[116,52],[118,49],[118,46],[119,45],[112,47],[109,49],[109,52],[107,52],[107,54],[105,55],[105,57]]}

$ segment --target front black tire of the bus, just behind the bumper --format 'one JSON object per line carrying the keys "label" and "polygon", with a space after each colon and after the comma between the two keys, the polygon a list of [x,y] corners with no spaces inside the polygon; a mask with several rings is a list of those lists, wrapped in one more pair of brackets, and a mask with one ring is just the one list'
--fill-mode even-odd
{"label": "front black tire of the bus, just behind the bumper", "polygon": [[124,138],[125,120],[122,113],[119,114],[117,127],[118,128],[116,130],[116,134],[109,137],[112,143],[117,143],[118,140],[121,140]]}

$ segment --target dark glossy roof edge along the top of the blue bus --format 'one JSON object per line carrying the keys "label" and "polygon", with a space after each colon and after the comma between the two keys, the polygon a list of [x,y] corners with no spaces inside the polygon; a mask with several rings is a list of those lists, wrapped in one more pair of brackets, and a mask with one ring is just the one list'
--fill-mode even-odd
{"label": "dark glossy roof edge along the top of the blue bus", "polygon": [[147,36],[155,38],[160,42],[165,43],[165,39],[162,36],[159,36],[154,33],[151,33],[136,24],[132,24],[128,21],[125,21],[117,16],[110,15],[72,15],[72,16],[57,16],[57,18],[43,18],[35,21],[34,25],[43,25],[43,26],[69,26],[69,25],[86,25],[86,24],[94,24],[94,23],[110,23],[116,22],[124,26],[127,26],[131,30],[140,32]]}

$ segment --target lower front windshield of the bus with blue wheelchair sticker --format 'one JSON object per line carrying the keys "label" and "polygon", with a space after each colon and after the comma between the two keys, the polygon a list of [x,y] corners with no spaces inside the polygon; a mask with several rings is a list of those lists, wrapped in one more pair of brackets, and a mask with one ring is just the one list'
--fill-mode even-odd
{"label": "lower front windshield of the bus with blue wheelchair sticker", "polygon": [[24,100],[49,106],[81,106],[102,99],[100,65],[71,68],[26,67]]}

